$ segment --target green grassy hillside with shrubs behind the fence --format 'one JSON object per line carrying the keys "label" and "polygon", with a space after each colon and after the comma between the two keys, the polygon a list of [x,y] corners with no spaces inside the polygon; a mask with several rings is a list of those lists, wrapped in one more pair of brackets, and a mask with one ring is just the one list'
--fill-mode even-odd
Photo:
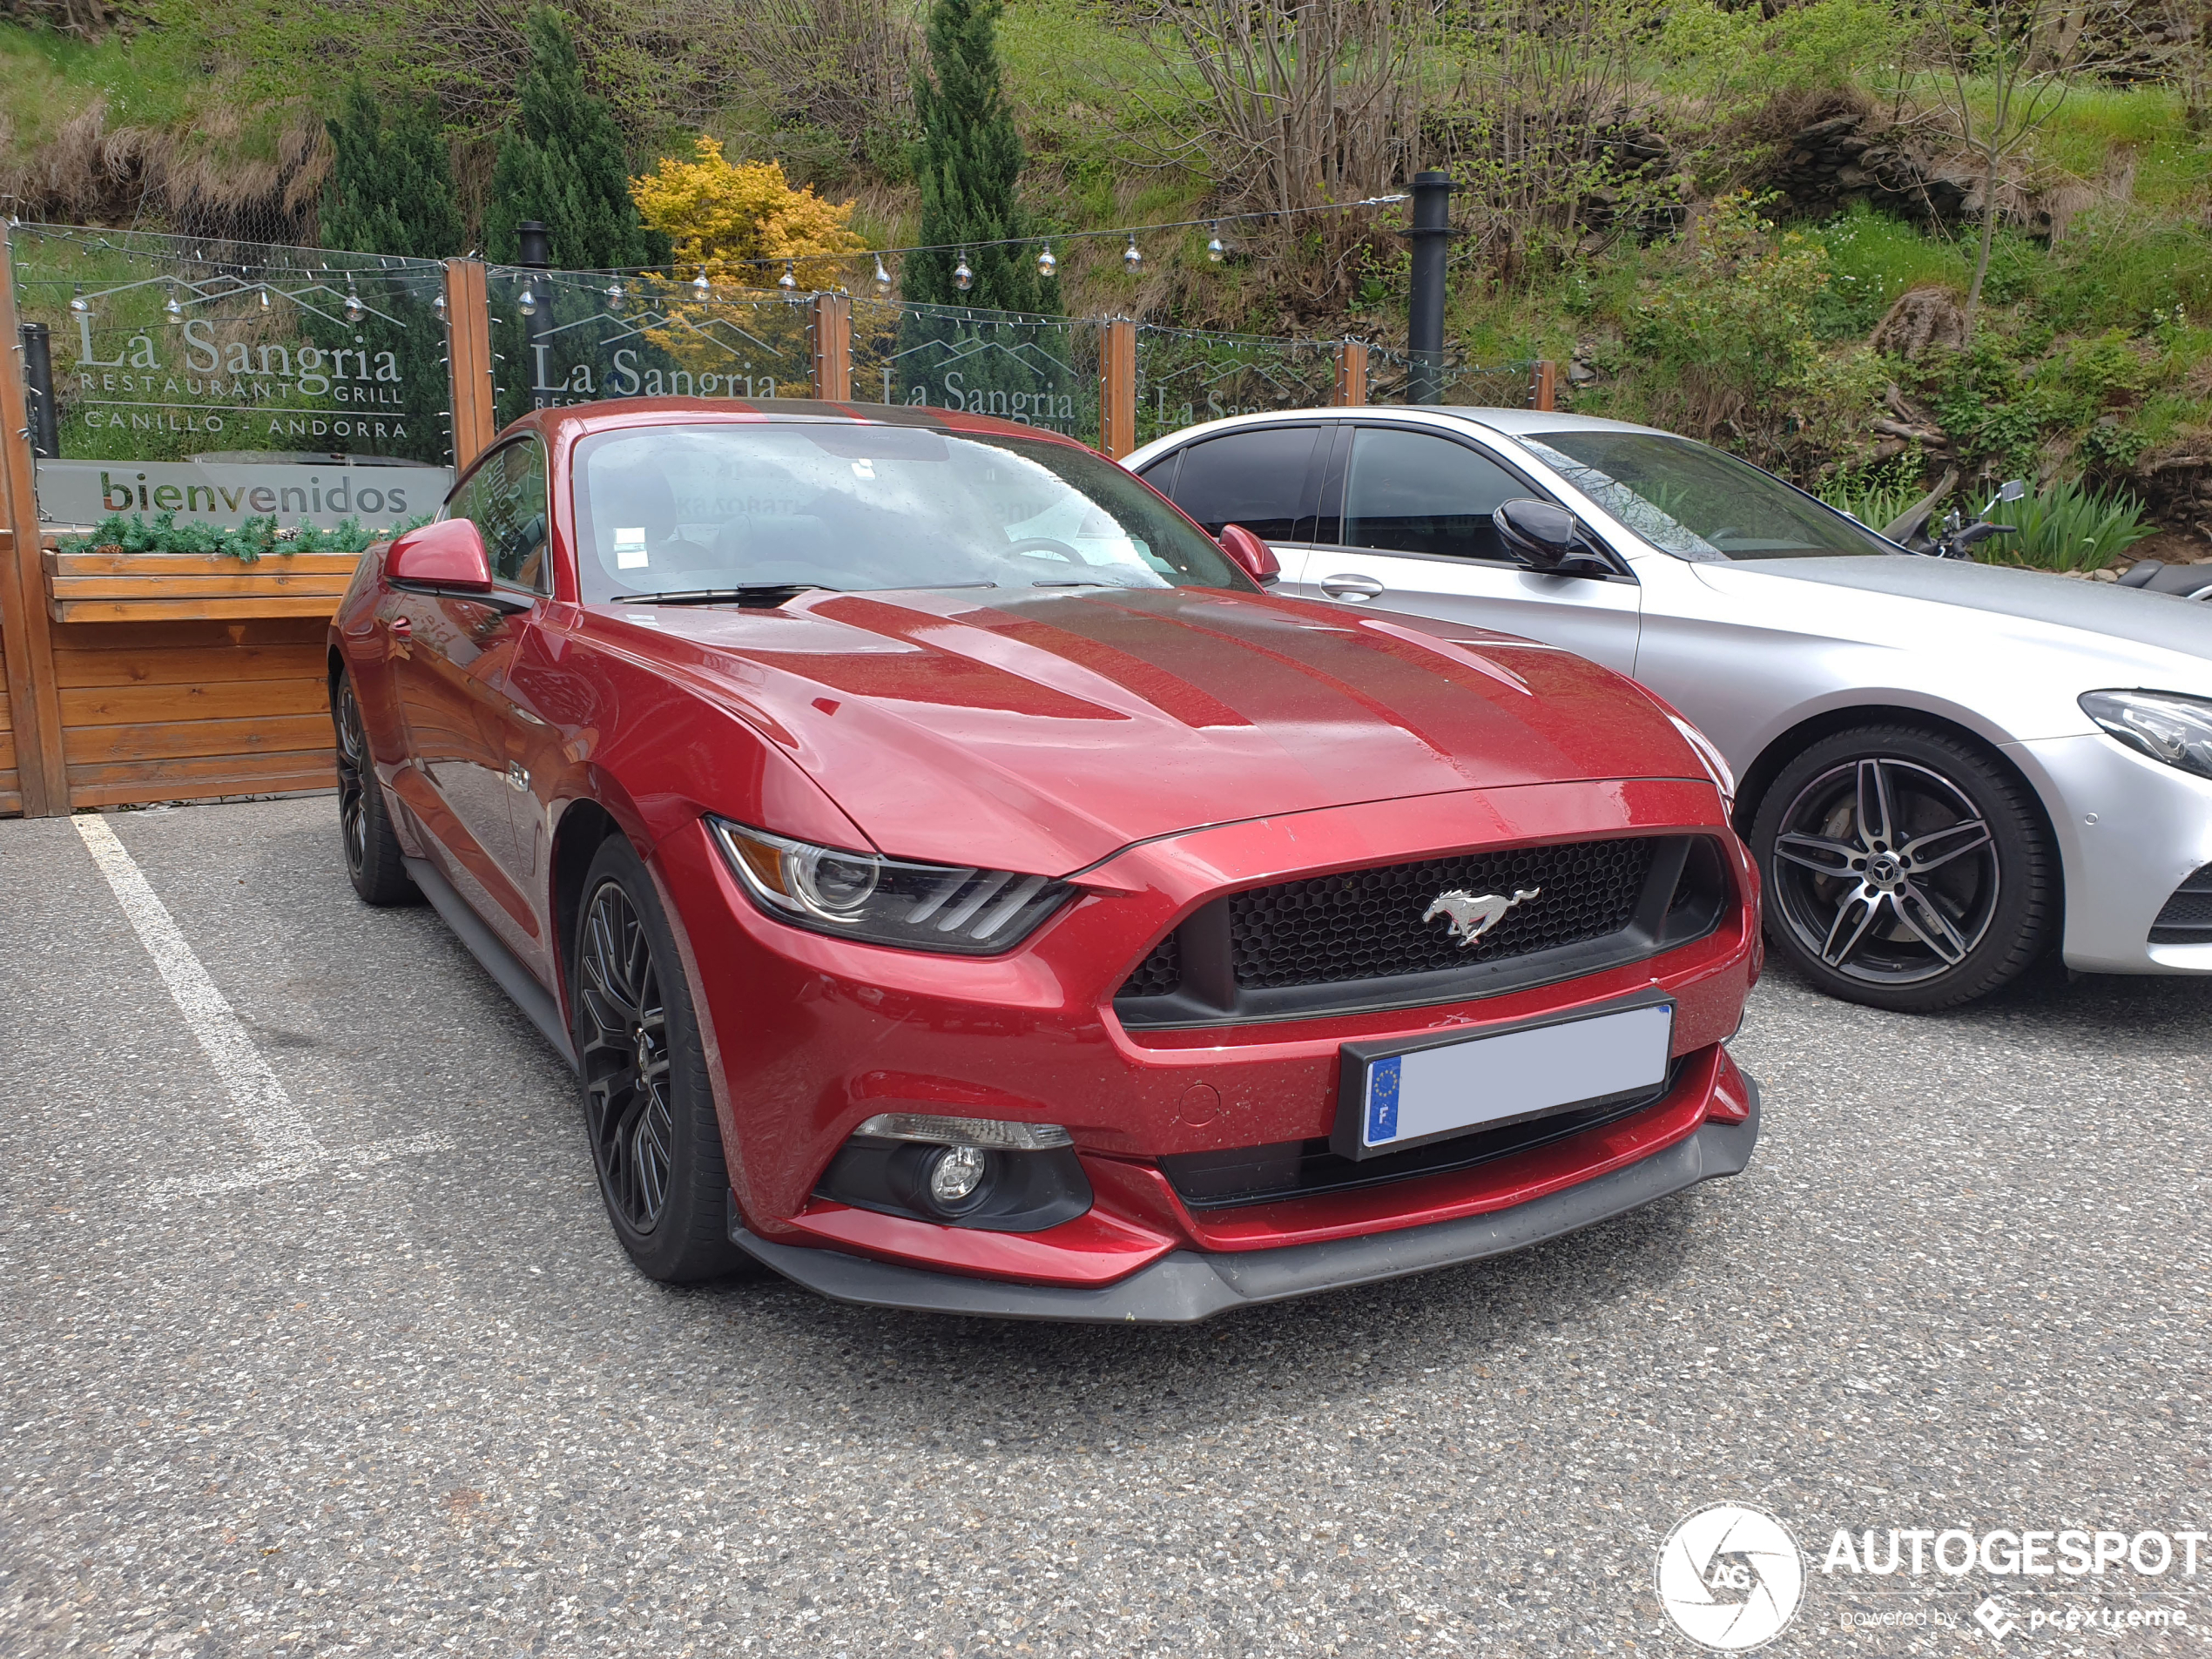
{"label": "green grassy hillside with shrubs behind the fence", "polygon": [[[442,122],[484,246],[511,234],[491,179],[526,15],[142,0],[97,40],[0,24],[0,190],[24,217],[312,241],[323,122],[361,77]],[[1723,442],[1867,515],[2024,473],[2099,511],[2132,495],[2163,533],[2128,555],[2212,553],[2201,7],[1336,0],[1270,40],[1283,15],[1011,0],[1029,226],[1352,201],[1444,166],[1467,361],[1557,358],[1573,407]],[[872,246],[918,237],[918,4],[602,0],[568,27],[633,170],[708,133],[856,199]],[[1053,288],[1071,312],[1402,345],[1402,223],[1230,226],[1225,263],[1206,228],[1168,232],[1135,276],[1117,241],[1060,241]]]}

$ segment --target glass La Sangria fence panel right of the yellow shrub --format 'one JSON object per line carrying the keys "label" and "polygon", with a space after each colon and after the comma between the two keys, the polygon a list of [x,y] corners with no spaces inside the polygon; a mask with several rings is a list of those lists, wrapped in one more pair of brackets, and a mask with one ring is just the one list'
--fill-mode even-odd
{"label": "glass La Sangria fence panel right of the yellow shrub", "polygon": [[852,301],[854,403],[991,414],[1099,440],[1095,319]]}

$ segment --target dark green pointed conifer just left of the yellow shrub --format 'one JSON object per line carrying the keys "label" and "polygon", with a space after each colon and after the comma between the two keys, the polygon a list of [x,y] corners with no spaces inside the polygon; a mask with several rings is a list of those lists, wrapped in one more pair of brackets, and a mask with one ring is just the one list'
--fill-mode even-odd
{"label": "dark green pointed conifer just left of the yellow shrub", "polygon": [[515,124],[500,137],[484,210],[484,248],[513,263],[515,226],[546,226],[553,263],[566,270],[659,265],[668,239],[646,230],[630,199],[622,128],[606,102],[584,91],[584,69],[568,24],[538,7],[524,24],[531,66],[522,75]]}

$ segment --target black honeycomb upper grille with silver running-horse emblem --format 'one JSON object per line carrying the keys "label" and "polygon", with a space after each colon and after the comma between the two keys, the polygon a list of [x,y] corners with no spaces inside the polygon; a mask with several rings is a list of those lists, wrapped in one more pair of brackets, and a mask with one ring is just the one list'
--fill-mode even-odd
{"label": "black honeycomb upper grille with silver running-horse emblem", "polygon": [[1292,1020],[1493,995],[1710,933],[1710,836],[1500,847],[1228,894],[1124,980],[1124,1024]]}

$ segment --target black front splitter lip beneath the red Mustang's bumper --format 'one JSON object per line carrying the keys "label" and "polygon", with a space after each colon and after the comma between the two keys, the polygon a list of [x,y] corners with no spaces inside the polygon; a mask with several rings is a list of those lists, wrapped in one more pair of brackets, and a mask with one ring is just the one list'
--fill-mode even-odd
{"label": "black front splitter lip beneath the red Mustang's bumper", "polygon": [[1113,1285],[1071,1290],[1000,1279],[900,1267],[843,1250],[779,1245],[754,1237],[730,1201],[730,1241],[785,1279],[841,1303],[909,1307],[980,1318],[1066,1318],[1093,1325],[1190,1325],[1232,1307],[1259,1307],[1323,1290],[1374,1285],[1383,1279],[1451,1267],[1462,1261],[1526,1250],[1663,1199],[1699,1181],[1739,1175],[1759,1144],[1759,1084],[1745,1075],[1752,1115],[1741,1124],[1705,1124],[1688,1139],[1639,1164],[1599,1175],[1511,1210],[1433,1221],[1425,1228],[1371,1232],[1283,1250],[1172,1250]]}

